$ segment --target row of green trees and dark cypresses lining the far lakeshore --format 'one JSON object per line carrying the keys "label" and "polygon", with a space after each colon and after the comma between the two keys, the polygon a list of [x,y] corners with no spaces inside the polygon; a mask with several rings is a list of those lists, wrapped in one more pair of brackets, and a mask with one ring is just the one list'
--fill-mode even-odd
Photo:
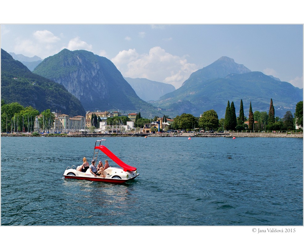
{"label": "row of green trees and dark cypresses lining the far lakeshore", "polygon": [[[5,104],[3,100],[1,100],[1,132],[33,132],[33,119],[35,116],[39,115],[39,112],[32,107],[24,108],[18,103]],[[42,123],[42,127],[51,127],[53,123],[54,116],[50,112],[49,109],[43,111],[40,114],[39,121]],[[50,117],[48,120],[47,117]],[[92,121],[96,121],[96,127],[98,128],[98,118],[92,115]],[[109,122],[111,119],[119,119],[122,123],[125,123],[129,120],[128,117],[126,119],[122,119],[123,117],[108,117]],[[158,117],[154,117],[153,121],[156,119],[160,119]],[[295,133],[303,131],[303,101],[300,101],[296,105],[294,117],[290,111],[287,111],[283,118],[275,117],[275,110],[273,106],[273,100],[270,100],[269,113],[255,111],[253,112],[253,108],[250,102],[249,106],[249,117],[244,116],[244,107],[243,101],[240,100],[240,112],[239,116],[236,117],[236,110],[234,102],[230,102],[228,100],[225,118],[218,119],[218,115],[215,110],[207,110],[200,117],[195,117],[192,114],[183,113],[180,116],[176,116],[173,119],[170,119],[172,122],[168,124],[166,120],[169,117],[165,115],[162,118],[162,122],[164,125],[160,132],[167,132],[168,129],[172,129],[174,131],[193,131],[193,132],[224,132],[235,133],[235,132],[274,132],[281,131],[281,133]],[[152,119],[151,119],[152,120]],[[139,133],[141,128],[143,128],[146,124],[150,124],[150,119],[145,119],[140,116],[140,113],[137,114],[135,119],[135,128],[130,131],[132,133]],[[95,124],[95,123],[94,123]],[[125,124],[124,124],[125,125]],[[86,128],[87,132],[96,132],[96,128],[92,125],[91,128]],[[13,129],[14,128],[14,129]],[[17,128],[17,130],[16,130]],[[156,129],[152,126],[150,128],[150,132],[154,132]],[[107,131],[109,133],[109,131]],[[112,131],[113,132],[113,131]],[[158,131],[157,131],[158,132]]]}

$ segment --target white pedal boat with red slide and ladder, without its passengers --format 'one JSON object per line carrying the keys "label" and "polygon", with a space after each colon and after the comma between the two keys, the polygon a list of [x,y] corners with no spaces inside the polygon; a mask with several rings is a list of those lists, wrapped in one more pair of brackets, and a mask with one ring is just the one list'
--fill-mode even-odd
{"label": "white pedal boat with red slide and ladder, without its passengers", "polygon": [[106,148],[104,145],[101,145],[101,141],[105,140],[97,140],[95,142],[94,155],[92,160],[95,160],[95,162],[97,163],[98,153],[101,151],[110,159],[112,159],[118,166],[110,166],[109,168],[104,170],[104,174],[106,175],[106,177],[103,178],[98,175],[97,177],[95,177],[90,172],[90,169],[88,169],[85,173],[77,171],[77,167],[75,165],[72,165],[71,167],[68,166],[64,171],[64,178],[99,182],[124,183],[126,181],[133,180],[139,175],[135,167],[129,166],[125,162],[121,161],[121,159],[114,155],[108,148]]}

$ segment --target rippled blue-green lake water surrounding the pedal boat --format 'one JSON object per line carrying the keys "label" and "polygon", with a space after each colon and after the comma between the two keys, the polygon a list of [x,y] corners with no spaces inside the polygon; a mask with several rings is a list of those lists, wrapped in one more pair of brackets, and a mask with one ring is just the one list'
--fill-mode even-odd
{"label": "rippled blue-green lake water surrounding the pedal boat", "polygon": [[[140,175],[64,179],[100,139]],[[1,137],[1,225],[300,226],[303,139]]]}

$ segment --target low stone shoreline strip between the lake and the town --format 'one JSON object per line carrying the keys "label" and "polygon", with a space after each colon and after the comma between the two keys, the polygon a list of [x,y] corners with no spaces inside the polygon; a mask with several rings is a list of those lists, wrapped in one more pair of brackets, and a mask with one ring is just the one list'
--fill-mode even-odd
{"label": "low stone shoreline strip between the lake and the town", "polygon": [[1,137],[285,137],[285,138],[303,138],[303,132],[294,133],[243,133],[243,132],[229,132],[229,133],[183,133],[173,135],[170,133],[123,133],[123,134],[101,134],[101,133],[87,133],[87,134],[39,134],[33,136],[31,133],[1,133]]}

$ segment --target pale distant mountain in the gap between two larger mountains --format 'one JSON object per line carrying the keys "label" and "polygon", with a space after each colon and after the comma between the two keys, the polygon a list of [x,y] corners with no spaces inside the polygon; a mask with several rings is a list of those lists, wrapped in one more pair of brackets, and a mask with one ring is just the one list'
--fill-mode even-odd
{"label": "pale distant mountain in the gap between two larger mountains", "polygon": [[151,81],[146,78],[124,78],[144,101],[158,100],[159,97],[175,90],[171,84]]}

